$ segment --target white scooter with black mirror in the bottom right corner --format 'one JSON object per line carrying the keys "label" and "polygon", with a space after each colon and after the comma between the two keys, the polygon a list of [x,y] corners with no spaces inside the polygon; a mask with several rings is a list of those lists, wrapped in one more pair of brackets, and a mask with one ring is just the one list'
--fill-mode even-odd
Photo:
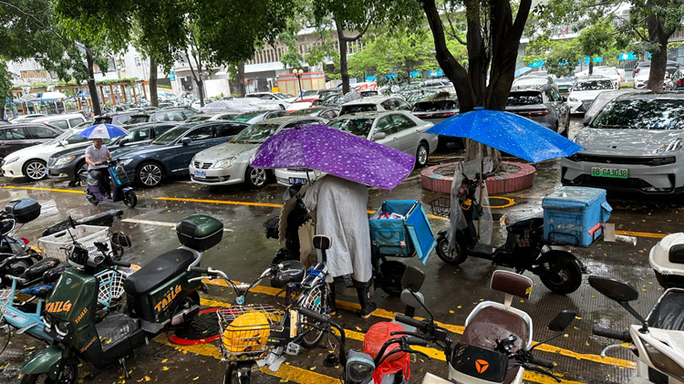
{"label": "white scooter with black mirror in the bottom right corner", "polygon": [[[681,316],[684,289],[667,289],[644,318],[629,305],[639,296],[632,285],[598,276],[589,276],[589,285],[623,306],[641,323],[640,326],[631,325],[628,331],[594,326],[594,335],[621,342],[604,348],[601,357],[605,358],[612,348],[631,350],[637,357],[637,377],[629,380],[629,384],[684,383],[684,321]],[[629,343],[627,347],[625,343]]]}

